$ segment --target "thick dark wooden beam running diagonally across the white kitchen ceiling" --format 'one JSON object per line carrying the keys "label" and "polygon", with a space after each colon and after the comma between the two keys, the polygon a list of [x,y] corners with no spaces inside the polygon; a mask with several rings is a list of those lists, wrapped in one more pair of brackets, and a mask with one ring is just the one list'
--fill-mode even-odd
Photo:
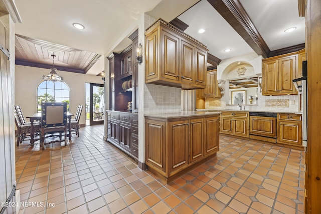
{"label": "thick dark wooden beam running diagonally across the white kitchen ceiling", "polygon": [[207,0],[214,9],[232,26],[244,41],[264,58],[270,53],[269,47],[256,30],[243,6],[238,0]]}

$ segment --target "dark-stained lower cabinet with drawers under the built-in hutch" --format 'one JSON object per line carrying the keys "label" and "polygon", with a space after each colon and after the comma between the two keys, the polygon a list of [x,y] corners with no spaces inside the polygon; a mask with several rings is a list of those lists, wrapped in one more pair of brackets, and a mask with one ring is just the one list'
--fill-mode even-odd
{"label": "dark-stained lower cabinet with drawers under the built-in hutch", "polygon": [[138,115],[107,111],[107,141],[138,159]]}

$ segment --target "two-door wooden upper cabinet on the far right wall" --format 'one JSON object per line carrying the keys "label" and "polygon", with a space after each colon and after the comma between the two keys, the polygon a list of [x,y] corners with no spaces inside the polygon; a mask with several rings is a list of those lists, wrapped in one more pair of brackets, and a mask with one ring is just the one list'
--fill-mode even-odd
{"label": "two-door wooden upper cabinet on the far right wall", "polygon": [[297,94],[292,80],[297,77],[297,54],[262,60],[262,95]]}

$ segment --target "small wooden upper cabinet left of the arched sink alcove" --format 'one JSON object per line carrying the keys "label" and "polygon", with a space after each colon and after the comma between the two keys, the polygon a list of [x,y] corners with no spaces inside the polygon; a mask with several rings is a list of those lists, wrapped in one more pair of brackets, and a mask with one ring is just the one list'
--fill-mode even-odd
{"label": "small wooden upper cabinet left of the arched sink alcove", "polygon": [[222,97],[220,89],[218,87],[217,83],[217,72],[215,70],[211,70],[207,72],[206,75],[206,88],[205,89],[199,89],[202,91],[202,97],[207,98],[216,98],[216,97]]}

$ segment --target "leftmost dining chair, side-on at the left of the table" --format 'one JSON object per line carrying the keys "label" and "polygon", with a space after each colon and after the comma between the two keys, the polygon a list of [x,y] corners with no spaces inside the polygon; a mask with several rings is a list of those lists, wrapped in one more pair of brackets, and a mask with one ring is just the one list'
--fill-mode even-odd
{"label": "leftmost dining chair, side-on at the left of the table", "polygon": [[[17,109],[15,109],[15,123],[17,126],[17,146],[19,146],[26,137],[30,137],[31,133],[31,124],[23,124]],[[34,124],[34,133],[39,134],[39,123]]]}

